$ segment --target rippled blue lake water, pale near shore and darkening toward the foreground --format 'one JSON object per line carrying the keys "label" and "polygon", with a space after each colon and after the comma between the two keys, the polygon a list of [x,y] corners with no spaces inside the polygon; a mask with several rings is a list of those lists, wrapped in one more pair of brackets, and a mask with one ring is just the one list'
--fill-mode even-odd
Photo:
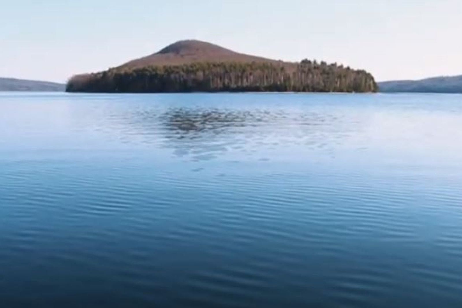
{"label": "rippled blue lake water, pale near shore and darkening toward the foreground", "polygon": [[2,307],[462,307],[462,95],[0,93]]}

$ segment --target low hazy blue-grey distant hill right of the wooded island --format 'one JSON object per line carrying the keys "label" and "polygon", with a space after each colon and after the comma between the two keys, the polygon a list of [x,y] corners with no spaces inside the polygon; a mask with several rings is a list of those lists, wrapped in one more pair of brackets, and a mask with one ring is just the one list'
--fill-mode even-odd
{"label": "low hazy blue-grey distant hill right of the wooded island", "polygon": [[462,75],[378,83],[380,92],[462,93]]}

